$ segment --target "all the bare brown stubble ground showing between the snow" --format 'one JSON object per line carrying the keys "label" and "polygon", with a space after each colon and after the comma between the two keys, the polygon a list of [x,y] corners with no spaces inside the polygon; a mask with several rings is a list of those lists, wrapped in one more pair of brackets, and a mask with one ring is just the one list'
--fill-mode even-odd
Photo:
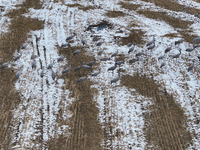
{"label": "all the bare brown stubble ground showing between the snow", "polygon": [[[181,11],[183,7],[183,5],[170,0],[167,2],[164,0],[144,1],[154,2],[157,6],[173,11]],[[192,37],[189,36],[190,31],[187,30],[188,26],[192,24],[190,21],[176,19],[162,12],[137,10],[139,5],[133,5],[133,7],[130,8],[128,1],[120,2],[119,4],[122,8],[137,11],[137,13],[142,14],[147,18],[159,19],[167,22],[174,28],[181,28],[182,30],[179,31],[179,34],[183,36],[185,41],[189,42],[192,40]],[[44,28],[44,21],[23,16],[24,13],[29,12],[29,8],[41,9],[42,6],[43,3],[39,2],[39,0],[26,0],[26,2],[17,6],[18,8],[16,10],[10,11],[7,14],[7,16],[12,20],[9,25],[9,32],[1,36],[0,39],[0,57],[2,58],[2,62],[13,60],[15,50],[18,50],[19,52],[27,38],[31,37],[31,35],[29,35],[31,30],[35,31]],[[81,5],[79,6],[79,4],[68,5],[68,7],[80,7],[79,9],[83,11],[94,9],[94,7],[84,7]],[[192,11],[193,13],[196,13],[198,9],[192,9]],[[126,16],[126,14],[121,11],[108,11],[105,15],[111,18]],[[133,23],[130,26],[137,27],[137,24]],[[173,37],[176,35],[170,34],[168,36]],[[134,30],[134,33],[130,33],[128,37],[123,37],[120,40],[117,40],[118,37],[116,36],[115,39],[118,45],[127,45],[130,40],[135,41],[135,44],[145,44],[146,41],[140,37],[145,37],[145,32],[137,29]],[[83,62],[93,60],[93,57],[88,55],[84,48],[82,55],[73,57],[72,53],[80,48],[81,47],[79,46],[69,46],[68,48],[60,48],[57,46],[59,55],[65,55],[67,61],[72,62],[72,70],[80,65],[80,60]],[[44,47],[44,51],[46,51],[46,49],[47,47]],[[116,60],[122,60],[123,57],[126,56],[121,54],[116,58]],[[69,63],[66,64],[64,68],[67,68],[68,66]],[[96,63],[93,66],[93,69],[98,70],[99,66],[100,63]],[[104,120],[104,123],[101,123],[98,118],[100,110],[97,107],[98,104],[95,97],[99,94],[99,91],[96,88],[91,88],[91,86],[95,85],[96,82],[87,80],[82,84],[76,83],[76,80],[79,77],[85,76],[86,72],[88,72],[88,74],[90,73],[88,70],[81,70],[80,72],[69,72],[67,75],[64,74],[60,76],[60,78],[64,80],[65,84],[63,90],[69,90],[71,92],[70,97],[74,100],[72,104],[67,106],[67,109],[72,113],[70,120],[66,121],[62,117],[65,111],[61,107],[59,113],[56,114],[56,121],[60,127],[62,125],[69,126],[69,134],[67,136],[60,134],[58,137],[49,138],[48,141],[44,141],[44,122],[40,122],[38,130],[41,131],[41,135],[38,136],[37,139],[32,140],[32,143],[34,143],[35,146],[39,144],[44,148],[51,150],[125,149],[115,145],[115,141],[120,141],[120,138],[126,136],[125,133],[120,130],[114,131],[114,126],[117,126],[112,122],[112,120],[115,119],[114,116],[110,115]],[[123,70],[121,70],[121,72],[123,72]],[[17,109],[22,103],[21,94],[19,91],[16,91],[14,87],[16,82],[15,74],[16,70],[12,67],[0,69],[0,149],[5,150],[9,150],[13,146],[19,144],[12,143],[13,126],[20,126],[20,124],[16,125],[16,122],[13,120],[12,110]],[[136,93],[151,99],[153,103],[153,105],[148,107],[149,113],[143,114],[145,122],[143,131],[145,142],[147,143],[146,149],[181,150],[187,149],[189,145],[193,145],[192,138],[194,135],[187,130],[187,117],[184,114],[183,108],[176,103],[173,95],[168,94],[162,85],[156,84],[156,82],[149,76],[133,74],[121,76],[120,87],[122,86],[125,86],[127,89],[135,89]],[[103,87],[102,90],[106,91],[107,89]],[[65,101],[65,98],[63,98],[62,101]],[[108,103],[106,98],[104,102],[105,105]],[[110,104],[107,104],[107,106],[109,105]],[[52,109],[51,106],[49,107],[49,109]],[[141,105],[141,107],[143,106]],[[108,115],[111,110],[111,107],[105,107],[105,116]],[[45,118],[43,118],[42,110],[40,113],[41,120],[43,121]],[[18,135],[16,135],[16,137],[17,136]],[[21,148],[25,149],[24,147]],[[37,149],[37,147],[34,148]],[[131,146],[129,146],[129,149],[132,149]]]}

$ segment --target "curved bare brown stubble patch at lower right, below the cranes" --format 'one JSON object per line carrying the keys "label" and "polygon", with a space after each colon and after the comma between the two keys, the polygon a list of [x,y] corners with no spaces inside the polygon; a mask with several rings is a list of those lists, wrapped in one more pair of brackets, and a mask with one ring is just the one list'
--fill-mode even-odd
{"label": "curved bare brown stubble patch at lower right, below the cranes", "polygon": [[186,149],[191,144],[187,118],[172,95],[145,76],[125,75],[121,78],[121,84],[153,99],[153,105],[149,107],[151,113],[144,115],[147,149],[151,149],[152,145],[157,147],[155,149]]}

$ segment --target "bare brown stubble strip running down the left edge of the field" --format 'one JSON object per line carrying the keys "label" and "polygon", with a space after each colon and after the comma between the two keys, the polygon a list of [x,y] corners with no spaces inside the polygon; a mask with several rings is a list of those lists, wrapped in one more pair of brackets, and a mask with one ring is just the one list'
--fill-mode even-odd
{"label": "bare brown stubble strip running down the left edge of the field", "polygon": [[[25,18],[21,14],[27,12],[28,8],[35,9],[41,7],[39,0],[28,0],[22,5],[18,5],[19,9],[13,10],[7,15],[12,18],[9,32],[1,36],[0,40],[0,55],[2,63],[13,60],[13,53],[19,50],[25,40],[27,33],[30,30],[39,30],[43,26],[43,22],[37,19]],[[13,87],[15,82],[15,72],[12,69],[0,70],[0,148],[11,149],[11,110],[16,108],[20,103],[20,96]]]}

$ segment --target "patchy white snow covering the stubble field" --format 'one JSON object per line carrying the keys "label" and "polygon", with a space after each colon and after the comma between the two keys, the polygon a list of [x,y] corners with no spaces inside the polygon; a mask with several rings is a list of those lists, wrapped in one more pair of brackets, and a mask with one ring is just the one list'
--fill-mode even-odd
{"label": "patchy white snow covering the stubble field", "polygon": [[[129,25],[134,22],[138,25],[138,27],[133,27],[134,29],[142,29],[146,31],[146,41],[152,39],[155,36],[155,48],[152,53],[152,59],[157,60],[160,55],[163,55],[164,50],[170,46],[171,42],[181,38],[179,35],[178,38],[169,38],[165,37],[165,34],[169,33],[177,33],[176,29],[171,27],[169,24],[153,20],[149,18],[145,18],[143,15],[138,14],[135,11],[129,11],[124,8],[121,8],[118,4],[117,0],[102,0],[97,1],[94,0],[94,3],[88,2],[86,0],[82,0],[79,3],[83,6],[100,6],[101,9],[90,9],[87,11],[79,10],[77,7],[68,7],[66,4],[74,4],[74,1],[66,0],[63,5],[61,2],[54,3],[53,1],[47,0],[43,4],[43,9],[30,9],[28,14],[24,14],[27,17],[38,18],[39,20],[44,20],[44,29],[40,31],[31,31],[31,35],[33,35],[32,39],[28,39],[33,41],[33,45],[29,45],[26,50],[23,50],[23,55],[18,61],[15,69],[18,70],[21,66],[23,66],[23,71],[20,76],[20,79],[16,81],[15,88],[21,92],[22,95],[22,103],[19,107],[14,110],[14,122],[20,124],[19,128],[15,129],[16,133],[13,133],[13,142],[16,142],[17,145],[13,148],[33,148],[35,145],[32,143],[32,140],[36,139],[40,136],[39,129],[37,125],[41,122],[41,110],[43,112],[43,137],[44,142],[50,138],[57,137],[59,134],[70,134],[68,132],[68,126],[60,127],[56,123],[56,114],[60,107],[67,108],[73,102],[73,98],[69,98],[69,90],[64,90],[64,79],[60,79],[63,66],[67,63],[68,60],[64,60],[60,63],[55,63],[53,67],[53,71],[57,72],[56,82],[52,80],[51,71],[45,69],[44,78],[40,78],[40,72],[42,70],[42,66],[47,68],[47,65],[52,63],[53,60],[57,60],[59,57],[58,50],[56,45],[61,46],[65,43],[65,39],[67,36],[72,35],[75,31],[77,33],[77,38],[74,40],[74,43],[71,46],[81,46],[81,35],[84,35],[84,39],[87,41],[88,45],[92,45],[92,34],[99,35],[103,39],[105,39],[105,43],[102,45],[102,48],[105,49],[102,57],[110,57],[110,54],[119,51],[119,54],[124,54],[128,59],[125,59],[125,63],[121,68],[126,70],[126,72],[121,73],[122,75],[129,74],[133,75],[136,73],[128,63],[130,58],[134,58],[137,52],[140,52],[146,49],[145,45],[136,45],[135,50],[132,54],[128,56],[128,48],[127,46],[119,46],[115,43],[114,35],[117,36],[128,36],[130,33]],[[180,4],[188,4],[190,1],[178,1]],[[17,3],[22,3],[22,1],[18,2],[9,2],[9,1],[1,1],[1,5],[5,5],[5,13],[9,11],[9,9],[13,9],[14,5]],[[171,10],[165,10],[158,6],[155,6],[152,3],[142,2],[140,0],[130,2],[135,4],[141,4],[141,8],[145,9],[151,8],[152,11],[164,11],[167,12],[170,16],[175,18],[180,18],[182,20],[193,21],[194,23],[190,26],[193,29],[193,33],[197,36],[200,36],[200,26],[196,21],[196,18],[192,15],[182,12],[174,12]],[[151,7],[150,7],[151,6]],[[199,8],[199,3],[192,2],[191,7]],[[126,17],[117,17],[117,18],[108,18],[104,15],[107,11],[123,11],[125,13],[129,13],[131,15]],[[180,17],[181,16],[181,17]],[[9,18],[1,17],[1,26],[4,27],[4,31],[6,32]],[[85,31],[85,28],[91,24],[97,24],[101,20],[107,20],[108,22],[113,24],[112,29],[102,29],[97,31],[97,28],[93,28],[92,31]],[[123,33],[116,33],[116,31],[121,28],[124,30]],[[35,35],[42,36],[41,40],[38,42],[38,51],[37,45],[35,42]],[[179,53],[178,48],[173,44],[173,50],[170,52],[171,55]],[[45,47],[46,53],[44,53]],[[188,118],[188,130],[198,136],[200,136],[199,125],[195,124],[194,121],[197,117],[199,117],[199,95],[200,95],[200,85],[199,85],[199,66],[197,55],[200,55],[199,50],[194,50],[191,56],[185,51],[187,47],[191,47],[191,45],[187,42],[183,42],[180,45],[180,49],[182,50],[181,58],[173,60],[172,58],[168,58],[166,60],[167,65],[163,70],[159,68],[161,62],[154,61],[152,65],[147,65],[146,70],[142,72],[146,75],[153,73],[154,80],[157,83],[162,84],[163,87],[167,89],[169,93],[172,93],[175,97],[175,100],[181,107],[184,109],[184,113]],[[94,51],[92,51],[94,49]],[[97,56],[98,49],[89,47],[86,49],[88,51],[88,55]],[[32,70],[31,62],[32,54],[40,55],[39,58],[36,58],[36,69]],[[16,53],[17,54],[17,53]],[[16,55],[15,54],[15,55]],[[99,57],[98,57],[99,59]],[[187,71],[189,65],[192,64],[192,60],[195,59],[195,69],[191,72]],[[39,61],[40,60],[40,61]],[[114,75],[111,72],[107,72],[107,69],[114,65],[114,58],[111,61],[100,62],[101,74],[98,78],[88,78],[91,81],[98,81],[98,84],[93,85],[94,88],[99,89],[99,95],[96,95],[96,101],[99,107],[99,119],[103,123],[104,118],[113,116],[112,121],[115,122],[114,130],[120,129],[124,131],[124,136],[120,141],[115,139],[114,145],[111,147],[115,148],[115,145],[119,145],[122,149],[128,149],[128,145],[132,145],[132,149],[145,149],[146,142],[143,133],[144,128],[144,118],[142,113],[145,111],[141,109],[141,104],[145,107],[148,107],[151,104],[150,99],[139,95],[134,89],[127,89],[126,87],[119,87],[120,81],[114,84],[114,87],[110,85],[111,79],[118,76],[117,71],[114,71]],[[98,60],[99,61],[99,60]],[[41,63],[40,63],[41,62]],[[135,68],[141,67],[142,62],[136,64]],[[115,87],[116,86],[116,87]],[[102,89],[102,90],[101,90]],[[131,94],[134,92],[135,95]],[[106,93],[106,94],[105,94]],[[104,104],[104,98],[107,98],[109,103],[108,106]],[[139,103],[139,101],[142,102]],[[194,105],[192,105],[192,103]],[[112,104],[112,105],[111,105]],[[48,109],[50,107],[51,109]],[[105,107],[110,108],[110,112],[108,112],[105,116],[103,110]],[[24,109],[25,108],[25,109]],[[112,108],[112,109],[111,109]],[[71,117],[71,113],[69,110],[65,110],[63,118],[66,120]],[[55,129],[58,129],[55,131]],[[137,132],[135,132],[137,131]],[[131,134],[130,134],[131,132]],[[190,146],[188,149],[200,149],[200,139],[192,139],[193,146]],[[134,143],[134,144],[133,144]],[[104,143],[102,143],[103,145]],[[41,145],[37,145],[40,147]]]}

